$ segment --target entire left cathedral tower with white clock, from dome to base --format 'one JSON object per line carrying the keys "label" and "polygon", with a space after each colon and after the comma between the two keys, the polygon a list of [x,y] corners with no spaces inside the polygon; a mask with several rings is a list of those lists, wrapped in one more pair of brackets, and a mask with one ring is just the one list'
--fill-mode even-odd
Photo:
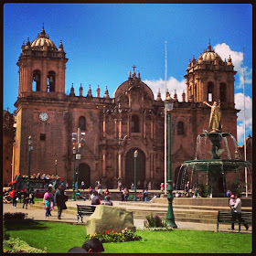
{"label": "entire left cathedral tower with white clock, from dome to base", "polygon": [[[64,114],[61,104],[65,99],[67,61],[62,41],[60,40],[57,48],[49,39],[44,27],[35,40],[30,42],[28,37],[27,43],[23,42],[16,63],[19,68],[19,83],[15,103],[17,121],[15,173],[20,171],[27,173],[28,136],[31,136],[33,144],[39,149],[32,153],[32,174],[39,172],[40,165],[48,158],[47,152],[52,152],[53,157],[48,161],[54,163],[58,159],[58,153],[52,150],[54,140],[51,138],[50,129],[57,130],[57,127],[54,127],[57,125],[56,122],[58,125],[63,123],[63,118],[58,121],[57,115],[59,113],[63,117]],[[46,165],[50,163],[47,162]],[[51,169],[50,166],[48,169]]]}

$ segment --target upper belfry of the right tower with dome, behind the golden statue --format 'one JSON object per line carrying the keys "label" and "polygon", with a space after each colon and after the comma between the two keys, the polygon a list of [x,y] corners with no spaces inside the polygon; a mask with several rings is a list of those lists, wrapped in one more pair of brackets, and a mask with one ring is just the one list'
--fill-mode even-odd
{"label": "upper belfry of the right tower with dome, behind the golden statue", "polygon": [[222,107],[234,108],[234,70],[229,56],[224,61],[211,48],[189,60],[187,74],[187,101],[220,101]]}

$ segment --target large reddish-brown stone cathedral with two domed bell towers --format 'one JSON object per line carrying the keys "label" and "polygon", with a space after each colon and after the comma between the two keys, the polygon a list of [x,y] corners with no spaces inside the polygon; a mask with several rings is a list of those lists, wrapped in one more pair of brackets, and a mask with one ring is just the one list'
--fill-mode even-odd
{"label": "large reddish-brown stone cathedral with two domed bell towers", "polygon": [[[119,181],[130,187],[137,150],[136,180],[142,184],[146,180],[159,189],[165,176],[165,95],[162,99],[159,91],[155,99],[142,81],[143,74],[134,66],[113,97],[107,88],[102,93],[100,87],[94,94],[91,88],[84,93],[80,86],[76,94],[73,85],[68,95],[67,61],[62,42],[57,48],[44,27],[36,39],[30,42],[28,38],[21,47],[15,103],[15,174],[26,175],[29,162],[31,174],[57,172],[69,184],[76,169],[79,184],[84,181],[85,187],[94,186],[96,180],[101,180],[103,187],[116,188]],[[177,100],[175,91],[171,92],[175,101],[171,112],[174,183],[180,165],[195,157],[197,135],[208,130],[210,108],[204,101],[220,101],[223,130],[237,137],[239,111],[234,103],[233,68],[230,57],[221,59],[208,44],[198,59],[189,60],[182,101]],[[72,142],[72,135],[78,131],[83,144]]]}

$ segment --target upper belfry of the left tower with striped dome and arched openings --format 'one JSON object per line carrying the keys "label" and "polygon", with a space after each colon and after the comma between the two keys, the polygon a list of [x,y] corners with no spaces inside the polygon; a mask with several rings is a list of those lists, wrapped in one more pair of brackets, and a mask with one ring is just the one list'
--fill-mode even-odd
{"label": "upper belfry of the left tower with striped dome and arched openings", "polygon": [[64,98],[67,61],[62,42],[57,48],[44,27],[32,43],[27,38],[27,44],[23,43],[17,61],[18,98]]}

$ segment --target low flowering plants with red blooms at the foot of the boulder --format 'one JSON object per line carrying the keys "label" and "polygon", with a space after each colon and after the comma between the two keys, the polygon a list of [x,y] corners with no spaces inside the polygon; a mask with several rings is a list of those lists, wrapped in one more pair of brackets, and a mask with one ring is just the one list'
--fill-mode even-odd
{"label": "low flowering plants with red blooms at the foot of the boulder", "polygon": [[114,230],[105,230],[104,234],[95,233],[90,235],[90,238],[97,238],[101,242],[124,242],[124,241],[133,241],[133,240],[142,240],[142,237],[137,235],[130,229],[123,229],[122,232],[118,233]]}

